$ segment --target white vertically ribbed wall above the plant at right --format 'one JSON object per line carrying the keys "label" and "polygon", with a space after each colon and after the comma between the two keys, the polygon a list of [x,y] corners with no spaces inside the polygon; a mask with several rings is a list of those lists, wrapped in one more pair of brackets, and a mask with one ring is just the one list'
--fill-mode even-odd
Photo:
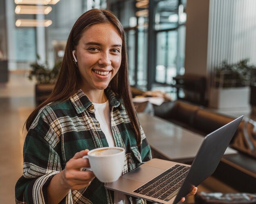
{"label": "white vertically ribbed wall above the plant at right", "polygon": [[256,1],[211,0],[207,69],[223,60],[236,63],[249,58],[256,65]]}

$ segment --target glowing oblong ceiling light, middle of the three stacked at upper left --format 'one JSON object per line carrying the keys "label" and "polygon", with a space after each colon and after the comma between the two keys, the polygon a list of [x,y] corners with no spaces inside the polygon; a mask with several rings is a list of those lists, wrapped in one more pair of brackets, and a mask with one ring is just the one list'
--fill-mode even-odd
{"label": "glowing oblong ceiling light, middle of the three stacked at upper left", "polygon": [[48,14],[52,11],[52,7],[45,6],[16,6],[16,14]]}

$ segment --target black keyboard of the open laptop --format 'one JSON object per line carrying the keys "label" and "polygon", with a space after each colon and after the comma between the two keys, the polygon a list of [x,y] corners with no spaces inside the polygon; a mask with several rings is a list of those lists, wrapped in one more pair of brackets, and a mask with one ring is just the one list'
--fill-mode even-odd
{"label": "black keyboard of the open laptop", "polygon": [[160,200],[171,200],[173,193],[182,186],[188,171],[187,166],[175,165],[133,192]]}

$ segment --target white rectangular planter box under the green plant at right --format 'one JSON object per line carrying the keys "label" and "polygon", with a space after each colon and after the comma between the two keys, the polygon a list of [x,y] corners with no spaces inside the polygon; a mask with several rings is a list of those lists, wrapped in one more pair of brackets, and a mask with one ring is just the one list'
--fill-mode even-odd
{"label": "white rectangular planter box under the green plant at right", "polygon": [[210,104],[212,108],[250,107],[250,88],[211,88]]}

